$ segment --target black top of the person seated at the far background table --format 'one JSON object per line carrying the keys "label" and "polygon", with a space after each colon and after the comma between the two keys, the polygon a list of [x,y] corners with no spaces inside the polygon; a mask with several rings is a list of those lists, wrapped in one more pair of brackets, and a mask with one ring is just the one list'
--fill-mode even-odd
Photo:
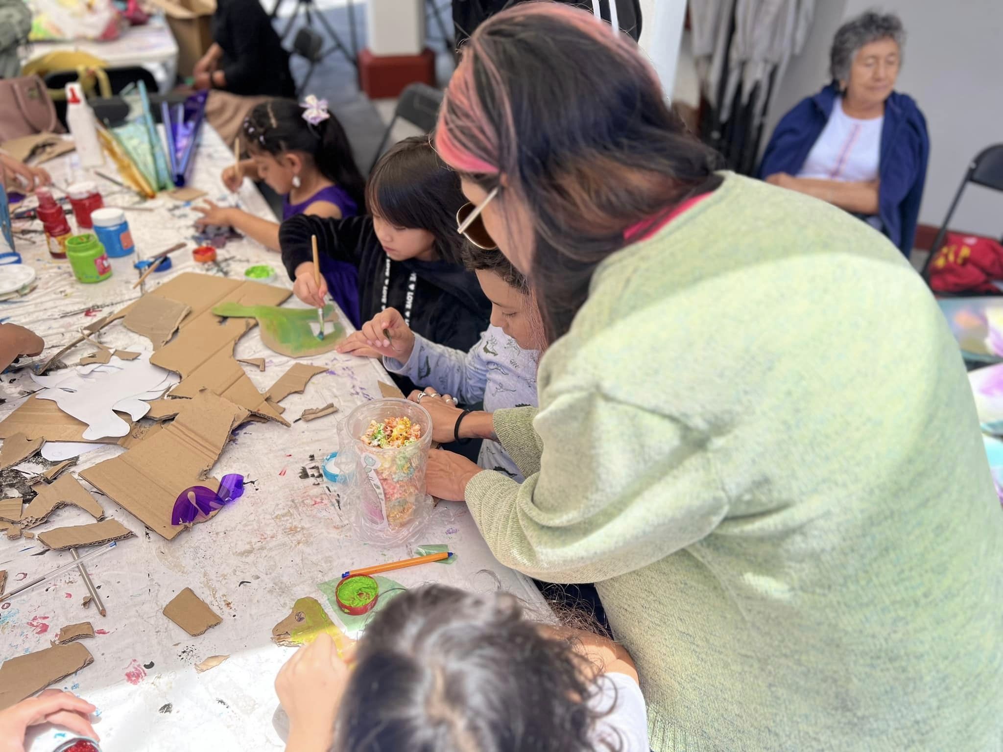
{"label": "black top of the person seated at the far background table", "polygon": [[217,0],[213,41],[223,48],[227,91],[242,96],[296,96],[289,53],[259,0]]}

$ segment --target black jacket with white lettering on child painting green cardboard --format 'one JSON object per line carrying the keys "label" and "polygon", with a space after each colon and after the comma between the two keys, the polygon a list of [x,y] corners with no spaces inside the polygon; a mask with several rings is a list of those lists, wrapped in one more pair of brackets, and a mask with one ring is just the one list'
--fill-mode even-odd
{"label": "black jacket with white lettering on child painting green cardboard", "polygon": [[[279,244],[289,279],[295,279],[296,267],[313,260],[311,235],[317,236],[325,277],[328,277],[328,266],[324,257],[358,269],[359,314],[362,321],[369,321],[384,308],[396,308],[403,315],[407,309],[407,297],[411,295],[411,329],[432,342],[465,352],[487,328],[491,306],[480,292],[480,285],[472,272],[440,261],[390,261],[376,239],[371,217],[330,220],[298,215],[282,223]],[[414,289],[409,290],[412,272],[416,280]],[[401,386],[401,389],[404,387]]]}

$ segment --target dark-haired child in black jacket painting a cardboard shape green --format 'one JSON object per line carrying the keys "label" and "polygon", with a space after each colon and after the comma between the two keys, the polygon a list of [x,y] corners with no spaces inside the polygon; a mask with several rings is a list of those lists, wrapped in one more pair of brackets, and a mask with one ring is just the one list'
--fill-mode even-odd
{"label": "dark-haired child in black jacket painting a cardboard shape green", "polygon": [[[323,305],[328,292],[358,325],[385,308],[400,311],[422,337],[466,350],[487,328],[490,303],[460,261],[456,211],[466,203],[459,177],[427,136],[406,138],[377,162],[366,185],[371,217],[300,215],[282,224],[282,261],[296,296]],[[314,283],[310,237],[317,236],[323,281]],[[343,350],[378,357],[364,343]]]}

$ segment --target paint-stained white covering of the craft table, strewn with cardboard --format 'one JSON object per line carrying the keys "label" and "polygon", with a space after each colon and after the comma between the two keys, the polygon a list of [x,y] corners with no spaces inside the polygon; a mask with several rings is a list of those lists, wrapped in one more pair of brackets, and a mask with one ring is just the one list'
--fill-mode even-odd
{"label": "paint-stained white covering of the craft table, strewn with cardboard", "polygon": [[[232,158],[219,136],[207,127],[193,184],[209,191],[212,198],[226,199],[219,174]],[[65,184],[82,176],[74,162],[75,155],[69,154],[47,166],[55,179]],[[112,195],[109,187],[102,182],[106,204],[134,201]],[[246,209],[271,217],[250,182],[245,183],[239,198]],[[157,202],[161,208],[155,212],[127,213],[137,249],[145,256],[192,234],[195,213],[191,209],[166,199]],[[25,263],[38,269],[41,284],[23,302],[0,305],[0,317],[34,329],[52,346],[47,353],[68,342],[77,328],[94,321],[84,313],[88,309],[93,314],[100,308],[96,313],[100,316],[136,297],[130,289],[136,277],[131,268],[134,257],[112,260],[114,276],[110,280],[81,285],[73,281],[64,262],[47,259],[40,236],[33,239],[30,243],[18,239],[16,243]],[[153,285],[178,272],[196,270],[190,251],[178,252],[173,258],[172,271],[149,278]],[[248,240],[231,242],[220,258],[233,275],[242,275],[252,264],[269,263],[281,269],[277,255]],[[215,268],[202,271],[218,274]],[[276,284],[289,286],[285,275]],[[120,322],[104,329],[99,339],[109,346],[149,346]],[[87,349],[80,348],[73,354],[84,352]],[[262,391],[291,363],[262,345],[257,328],[238,343],[236,355],[266,358],[264,373],[246,368]],[[377,380],[387,381],[388,377],[376,361],[368,359],[328,353],[306,360],[327,365],[329,370],[315,376],[304,394],[284,400],[286,415],[296,416],[305,407],[329,401],[337,404],[340,412],[310,423],[294,423],[291,428],[259,423],[242,429],[224,450],[214,474],[240,472],[256,482],[235,505],[212,520],[169,541],[144,532],[135,517],[109,498],[95,494],[108,516],[137,533],[120,542],[119,549],[88,566],[94,584],[101,586],[99,592],[108,609],[106,619],[93,607],[81,606],[87,594],[75,574],[57,578],[48,590],[39,587],[16,597],[8,608],[0,608],[2,660],[47,648],[49,640],[67,624],[89,621],[95,630],[107,632],[83,641],[94,663],[55,685],[97,705],[100,718],[96,728],[105,752],[281,749],[272,723],[278,705],[273,682],[291,650],[271,642],[272,628],[303,596],[316,598],[337,624],[334,610],[317,583],[336,579],[352,567],[413,555],[405,546],[381,549],[353,539],[352,499],[339,496],[337,486],[330,483],[300,478],[301,467],[315,464],[311,456],[322,458],[337,448],[339,417],[365,399],[378,397]],[[16,373],[14,379],[10,375],[0,379],[0,396],[7,399],[0,405],[0,418],[20,403],[20,384],[27,378]],[[84,454],[70,471],[75,474],[119,451],[118,447],[105,446]],[[88,521],[92,520],[85,512],[64,507],[33,531]],[[494,559],[461,504],[439,503],[416,542],[448,543],[458,559],[447,566],[433,563],[389,573],[402,585],[415,587],[436,581],[482,592],[501,588],[539,607],[542,616],[546,613],[533,584]],[[69,559],[68,551],[32,555],[42,548],[31,539],[0,538],[0,569],[10,575],[8,586],[20,582],[19,573],[25,573],[22,580],[30,579]],[[191,587],[221,615],[223,624],[190,638],[163,617],[160,610],[185,587]],[[43,632],[37,625],[47,629]],[[216,669],[197,674],[195,665],[214,655],[231,658]]]}

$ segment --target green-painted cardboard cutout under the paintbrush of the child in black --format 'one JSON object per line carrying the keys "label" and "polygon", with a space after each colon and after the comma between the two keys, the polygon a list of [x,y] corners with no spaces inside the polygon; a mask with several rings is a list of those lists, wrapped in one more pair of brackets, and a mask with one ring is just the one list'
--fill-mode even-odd
{"label": "green-painted cardboard cutout under the paintbrush of the child in black", "polygon": [[226,302],[213,307],[217,316],[255,318],[261,325],[262,341],[282,355],[299,358],[317,355],[334,347],[345,338],[345,328],[335,319],[334,306],[324,307],[324,319],[331,322],[331,331],[318,339],[311,328],[317,324],[316,308],[279,308],[277,306],[242,306]]}

